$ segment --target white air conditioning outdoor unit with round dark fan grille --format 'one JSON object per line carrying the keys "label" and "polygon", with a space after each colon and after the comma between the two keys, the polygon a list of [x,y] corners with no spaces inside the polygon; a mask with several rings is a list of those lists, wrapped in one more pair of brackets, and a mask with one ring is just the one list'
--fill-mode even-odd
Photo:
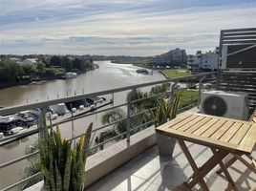
{"label": "white air conditioning outdoor unit with round dark fan grille", "polygon": [[247,120],[248,95],[224,91],[207,91],[201,95],[201,113]]}

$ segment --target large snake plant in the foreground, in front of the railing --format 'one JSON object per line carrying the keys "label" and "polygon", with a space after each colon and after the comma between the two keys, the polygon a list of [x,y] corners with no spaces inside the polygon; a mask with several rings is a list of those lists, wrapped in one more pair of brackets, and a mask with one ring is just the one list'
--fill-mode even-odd
{"label": "large snake plant in the foreground, in front of the railing", "polygon": [[48,131],[44,127],[40,140],[40,168],[44,177],[46,191],[84,189],[85,162],[89,151],[93,123],[84,136],[73,145],[72,140],[61,138],[59,128]]}

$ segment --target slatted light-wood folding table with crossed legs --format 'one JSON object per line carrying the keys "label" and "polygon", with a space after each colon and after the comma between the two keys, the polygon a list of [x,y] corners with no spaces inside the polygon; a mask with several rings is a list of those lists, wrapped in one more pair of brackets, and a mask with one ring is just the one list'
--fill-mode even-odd
{"label": "slatted light-wood folding table with crossed legs", "polygon": [[[209,190],[203,177],[218,164],[220,164],[225,178],[229,182],[228,186],[237,190],[234,181],[224,166],[223,159],[229,153],[239,156],[251,154],[256,142],[255,123],[189,112],[160,125],[157,132],[178,139],[181,149],[194,171],[191,178],[178,186],[176,190],[191,190],[198,183],[203,190]],[[209,147],[213,156],[199,168],[184,141]]]}

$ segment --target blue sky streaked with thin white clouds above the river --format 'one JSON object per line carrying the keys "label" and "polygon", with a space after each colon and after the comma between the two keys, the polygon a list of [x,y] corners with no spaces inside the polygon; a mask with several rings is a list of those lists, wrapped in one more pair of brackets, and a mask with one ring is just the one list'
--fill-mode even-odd
{"label": "blue sky streaked with thin white clouds above the river", "polygon": [[252,27],[256,0],[0,0],[0,53],[206,52]]}

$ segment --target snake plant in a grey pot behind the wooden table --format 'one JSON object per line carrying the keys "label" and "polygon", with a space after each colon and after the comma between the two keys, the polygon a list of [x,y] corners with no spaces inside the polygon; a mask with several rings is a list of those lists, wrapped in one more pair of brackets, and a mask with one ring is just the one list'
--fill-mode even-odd
{"label": "snake plant in a grey pot behind the wooden table", "polygon": [[[180,99],[181,95],[178,93],[175,96],[173,104],[166,102],[163,98],[157,100],[156,111],[154,112],[153,110],[150,110],[150,114],[154,120],[155,127],[158,127],[177,116]],[[163,134],[157,133],[157,141],[159,145],[160,157],[172,159],[176,138],[170,138]]]}

